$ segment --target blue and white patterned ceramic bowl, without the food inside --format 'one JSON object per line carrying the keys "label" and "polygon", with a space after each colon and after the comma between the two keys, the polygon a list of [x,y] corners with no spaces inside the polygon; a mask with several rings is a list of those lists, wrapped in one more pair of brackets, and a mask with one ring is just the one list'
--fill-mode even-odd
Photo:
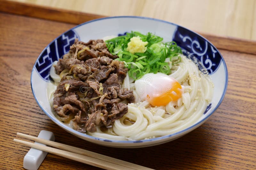
{"label": "blue and white patterned ceramic bowl, without the food inside", "polygon": [[[156,33],[164,38],[164,41],[175,41],[183,49],[184,55],[194,55],[204,64],[210,73],[214,83],[212,102],[208,105],[204,115],[192,126],[177,133],[163,137],[157,137],[140,141],[117,141],[92,137],[78,132],[65,123],[57,120],[47,100],[46,86],[49,83],[49,72],[52,63],[59,60],[62,55],[68,53],[69,46],[74,43],[75,38],[80,41],[90,39],[102,39],[109,35],[122,35],[125,32],[139,31],[141,33]],[[31,73],[31,88],[39,107],[49,118],[69,133],[92,143],[122,148],[146,147],[177,139],[203,124],[213,112],[220,106],[228,85],[228,70],[220,52],[201,35],[194,33],[176,24],[145,17],[121,16],[108,17],[92,20],[80,24],[53,40],[38,56]]]}

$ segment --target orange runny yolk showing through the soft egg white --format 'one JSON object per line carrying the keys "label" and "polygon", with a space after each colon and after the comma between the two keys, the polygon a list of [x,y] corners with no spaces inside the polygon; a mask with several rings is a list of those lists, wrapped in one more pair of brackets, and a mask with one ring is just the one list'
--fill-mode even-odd
{"label": "orange runny yolk showing through the soft egg white", "polygon": [[170,101],[180,99],[181,94],[181,85],[174,79],[171,88],[160,94],[148,94],[147,100],[152,106],[165,106]]}

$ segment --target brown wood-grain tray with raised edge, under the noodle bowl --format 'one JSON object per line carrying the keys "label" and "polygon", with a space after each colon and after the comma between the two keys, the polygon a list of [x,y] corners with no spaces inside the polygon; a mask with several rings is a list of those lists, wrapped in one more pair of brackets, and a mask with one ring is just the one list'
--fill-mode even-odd
{"label": "brown wood-grain tray with raised edge, under the noodle bowl", "polygon": [[[31,70],[44,47],[77,23],[101,16],[0,3],[1,169],[22,169],[29,148],[13,142],[16,132],[37,136],[43,129],[52,131],[57,142],[154,169],[256,168],[256,42],[204,35],[220,49],[229,81],[222,104],[202,126],[157,146],[110,148],[58,127],[38,107],[30,87]],[[39,169],[98,168],[48,154]]]}

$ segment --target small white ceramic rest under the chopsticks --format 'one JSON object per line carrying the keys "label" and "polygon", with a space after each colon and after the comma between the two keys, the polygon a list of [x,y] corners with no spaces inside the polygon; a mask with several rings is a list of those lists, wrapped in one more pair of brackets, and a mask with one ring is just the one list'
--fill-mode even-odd
{"label": "small white ceramic rest under the chopsticks", "polygon": [[[54,134],[47,130],[41,130],[39,135],[39,138],[55,141]],[[35,142],[36,144],[41,144],[38,142]],[[45,144],[41,144],[46,146]],[[31,148],[28,153],[25,155],[23,160],[23,167],[28,170],[37,170],[41,163],[43,162],[45,156],[48,152],[44,152],[35,148]]]}

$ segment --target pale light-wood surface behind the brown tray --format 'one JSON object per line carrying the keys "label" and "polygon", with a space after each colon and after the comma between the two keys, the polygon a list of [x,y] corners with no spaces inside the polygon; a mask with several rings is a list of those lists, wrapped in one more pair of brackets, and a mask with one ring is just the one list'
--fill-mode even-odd
{"label": "pale light-wood surface behind the brown tray", "polygon": [[256,41],[256,0],[12,0],[105,16],[164,19],[197,32]]}

